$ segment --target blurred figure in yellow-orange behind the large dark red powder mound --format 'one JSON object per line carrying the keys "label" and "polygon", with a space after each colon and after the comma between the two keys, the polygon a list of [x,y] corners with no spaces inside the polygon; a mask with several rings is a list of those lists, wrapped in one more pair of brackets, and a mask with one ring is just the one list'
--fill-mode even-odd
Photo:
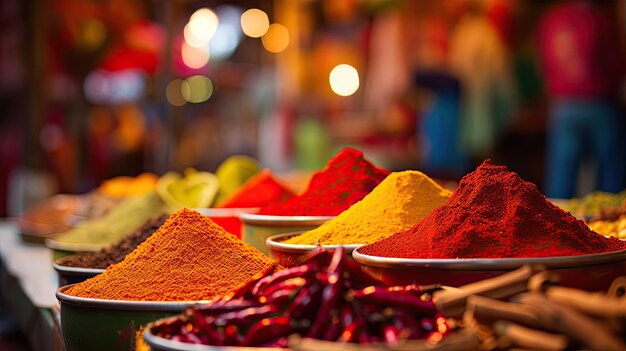
{"label": "blurred figure in yellow-orange behind the large dark red powder mound", "polygon": [[487,5],[471,4],[452,31],[448,55],[461,83],[461,148],[477,163],[493,155],[517,102],[510,53]]}

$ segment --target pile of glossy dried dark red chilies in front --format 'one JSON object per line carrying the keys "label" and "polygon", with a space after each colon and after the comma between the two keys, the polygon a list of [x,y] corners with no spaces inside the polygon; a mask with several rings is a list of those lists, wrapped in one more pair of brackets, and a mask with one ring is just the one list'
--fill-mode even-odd
{"label": "pile of glossy dried dark red chilies in front", "polygon": [[449,332],[430,292],[385,287],[345,250],[317,249],[305,264],[251,280],[232,296],[157,322],[151,333],[216,346],[287,347],[288,336],[348,343],[441,340]]}

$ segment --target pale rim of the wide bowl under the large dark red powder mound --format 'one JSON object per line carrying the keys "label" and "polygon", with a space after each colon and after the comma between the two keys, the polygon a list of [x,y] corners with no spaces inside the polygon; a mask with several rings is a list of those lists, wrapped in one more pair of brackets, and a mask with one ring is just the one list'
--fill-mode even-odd
{"label": "pale rim of the wide bowl under the large dark red powder mound", "polygon": [[578,256],[420,259],[366,255],[360,253],[357,248],[352,251],[352,257],[364,266],[396,269],[430,267],[443,270],[501,270],[517,268],[524,264],[543,264],[547,268],[573,268],[626,261],[626,249]]}

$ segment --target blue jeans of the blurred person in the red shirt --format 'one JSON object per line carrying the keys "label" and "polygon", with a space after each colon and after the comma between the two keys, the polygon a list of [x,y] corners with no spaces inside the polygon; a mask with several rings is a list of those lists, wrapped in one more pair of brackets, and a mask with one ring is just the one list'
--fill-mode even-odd
{"label": "blue jeans of the blurred person in the red shirt", "polygon": [[624,188],[623,121],[608,101],[557,100],[550,108],[546,165],[546,196],[576,196],[580,161],[590,155],[596,164],[596,190]]}

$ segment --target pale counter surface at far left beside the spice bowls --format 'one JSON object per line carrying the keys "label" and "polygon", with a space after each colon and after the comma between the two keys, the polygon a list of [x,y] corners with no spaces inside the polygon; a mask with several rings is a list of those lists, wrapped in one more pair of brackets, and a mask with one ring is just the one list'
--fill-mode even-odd
{"label": "pale counter surface at far left beside the spice bowls", "polygon": [[23,243],[14,223],[0,222],[0,297],[34,351],[65,351],[51,261],[49,249]]}

